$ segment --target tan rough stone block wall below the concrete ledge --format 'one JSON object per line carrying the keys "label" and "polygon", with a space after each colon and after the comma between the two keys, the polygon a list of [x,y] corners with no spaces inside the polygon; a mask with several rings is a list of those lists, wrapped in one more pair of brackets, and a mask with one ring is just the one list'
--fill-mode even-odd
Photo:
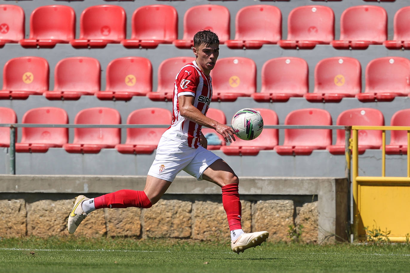
{"label": "tan rough stone block wall below the concrete ledge", "polygon": [[[166,196],[165,196],[166,197]],[[204,199],[204,197],[202,197]],[[149,209],[101,209],[84,219],[74,236],[172,237],[215,240],[229,238],[228,221],[221,202],[162,199]],[[66,230],[74,199],[0,200],[0,237],[71,236]],[[318,240],[317,201],[295,207],[292,200],[242,203],[246,232],[266,230],[271,241],[289,241],[289,225],[303,224],[302,239]],[[296,214],[295,214],[296,212]]]}

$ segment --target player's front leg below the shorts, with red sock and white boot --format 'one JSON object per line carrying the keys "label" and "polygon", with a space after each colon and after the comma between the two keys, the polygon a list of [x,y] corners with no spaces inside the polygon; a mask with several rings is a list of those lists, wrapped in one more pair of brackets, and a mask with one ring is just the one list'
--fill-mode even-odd
{"label": "player's front leg below the shorts, with red sock and white boot", "polygon": [[203,173],[202,178],[222,188],[222,203],[231,232],[231,248],[236,253],[259,246],[269,236],[267,231],[245,233],[241,227],[242,206],[239,201],[239,179],[222,159],[216,160]]}

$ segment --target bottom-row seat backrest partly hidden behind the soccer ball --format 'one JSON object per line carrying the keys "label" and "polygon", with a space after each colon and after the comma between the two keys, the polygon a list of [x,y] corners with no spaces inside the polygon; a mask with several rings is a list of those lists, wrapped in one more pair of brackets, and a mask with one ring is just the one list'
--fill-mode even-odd
{"label": "bottom-row seat backrest partly hidden behind the soccer ball", "polygon": [[[254,108],[256,111],[260,112],[260,115],[263,119],[264,125],[278,125],[278,115],[275,111],[271,109],[265,108]],[[253,140],[241,140],[240,138],[236,138],[235,142],[232,142],[229,146],[266,146],[266,147],[274,147],[278,145],[279,136],[278,136],[278,129],[263,129],[262,133]]]}

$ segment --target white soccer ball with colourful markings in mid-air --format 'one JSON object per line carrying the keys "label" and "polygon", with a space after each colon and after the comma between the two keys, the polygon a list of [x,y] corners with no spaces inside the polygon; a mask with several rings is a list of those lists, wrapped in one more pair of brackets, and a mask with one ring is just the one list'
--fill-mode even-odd
{"label": "white soccer ball with colourful markings in mid-air", "polygon": [[257,138],[263,129],[263,120],[260,113],[251,108],[244,108],[232,117],[232,128],[235,135],[243,140]]}

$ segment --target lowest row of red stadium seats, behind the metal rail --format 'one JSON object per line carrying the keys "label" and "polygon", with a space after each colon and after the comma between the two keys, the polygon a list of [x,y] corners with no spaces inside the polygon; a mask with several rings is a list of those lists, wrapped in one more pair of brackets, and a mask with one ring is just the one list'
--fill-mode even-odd
{"label": "lowest row of red stadium seats, behind the metal rail", "polygon": [[[279,124],[273,110],[257,108],[265,125]],[[223,111],[210,108],[207,116],[226,124]],[[128,115],[127,124],[171,124],[172,115],[164,108],[142,108]],[[0,108],[0,123],[16,123],[13,109]],[[62,108],[40,107],[27,111],[21,123],[25,124],[68,124],[68,115]],[[113,108],[95,107],[78,112],[74,124],[121,124],[121,115]],[[298,109],[285,118],[285,125],[332,125],[328,111],[318,108]],[[383,126],[383,113],[374,108],[355,108],[343,111],[335,125]],[[410,109],[397,111],[390,122],[392,126],[410,126]],[[121,129],[116,128],[75,128],[73,143],[68,142],[66,128],[22,128],[21,142],[16,143],[17,152],[46,152],[50,147],[63,147],[69,153],[98,153],[103,148],[115,148],[120,153],[153,153],[166,128],[128,128],[127,139],[121,144]],[[9,128],[0,129],[1,147],[9,147]],[[225,145],[221,135],[213,129],[204,128],[205,137],[212,138],[208,149],[221,149],[227,155],[257,155],[260,150],[274,149],[280,155],[309,155],[313,150],[327,149],[332,154],[344,154],[344,130],[337,130],[337,140],[332,145],[330,129],[285,129],[283,145],[278,145],[278,129],[264,129],[259,137],[246,141],[237,139]],[[215,134],[217,136],[215,136]],[[215,138],[217,139],[215,141]],[[360,130],[358,150],[380,149],[382,132]],[[391,141],[386,145],[386,153],[407,153],[407,131],[392,131]]]}

